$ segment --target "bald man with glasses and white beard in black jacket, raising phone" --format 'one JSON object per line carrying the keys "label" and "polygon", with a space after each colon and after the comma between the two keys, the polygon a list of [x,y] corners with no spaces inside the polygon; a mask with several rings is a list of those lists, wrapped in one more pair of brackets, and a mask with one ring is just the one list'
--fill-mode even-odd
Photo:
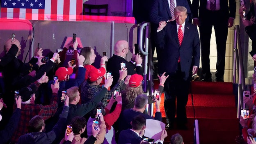
{"label": "bald man with glasses and white beard in black jacket, raising phone", "polygon": [[117,41],[114,46],[114,55],[110,57],[107,61],[107,71],[111,71],[113,75],[113,84],[111,88],[116,84],[117,80],[119,79],[119,70],[121,70],[120,63],[125,62],[127,68],[127,75],[133,75],[135,73],[139,75],[143,75],[142,69],[142,57],[140,55],[135,55],[133,50],[133,57],[128,62],[126,60],[127,53],[130,51],[130,47],[128,42],[125,40]]}

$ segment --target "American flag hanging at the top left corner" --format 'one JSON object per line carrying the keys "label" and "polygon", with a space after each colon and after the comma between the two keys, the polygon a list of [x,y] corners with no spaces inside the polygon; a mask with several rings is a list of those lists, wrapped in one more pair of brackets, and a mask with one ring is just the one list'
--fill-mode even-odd
{"label": "American flag hanging at the top left corner", "polygon": [[1,0],[1,18],[79,21],[82,0]]}

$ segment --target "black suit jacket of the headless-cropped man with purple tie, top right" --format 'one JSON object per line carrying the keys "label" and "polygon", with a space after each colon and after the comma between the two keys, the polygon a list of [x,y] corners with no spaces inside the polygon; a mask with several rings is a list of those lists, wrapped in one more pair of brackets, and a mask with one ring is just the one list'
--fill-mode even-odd
{"label": "black suit jacket of the headless-cropped man with purple tie, top right", "polygon": [[[199,7],[199,3],[200,3],[200,7]],[[207,0],[193,0],[192,2],[193,18],[200,19],[202,17],[208,16],[206,15],[207,13],[205,12],[207,10],[206,5],[207,5]],[[224,16],[235,18],[235,9],[236,9],[235,0],[219,0],[219,5],[220,5],[220,11]]]}

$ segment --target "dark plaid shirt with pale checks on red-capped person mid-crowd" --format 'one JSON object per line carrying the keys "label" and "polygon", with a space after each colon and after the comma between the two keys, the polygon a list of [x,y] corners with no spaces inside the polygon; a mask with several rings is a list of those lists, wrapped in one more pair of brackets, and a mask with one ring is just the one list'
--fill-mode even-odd
{"label": "dark plaid shirt with pale checks on red-capped person mid-crowd", "polygon": [[[116,85],[113,87],[113,89],[119,89],[121,90],[123,86],[123,80],[118,80]],[[102,87],[100,85],[91,85],[87,81],[83,82],[81,85],[81,98],[82,103],[86,103],[91,98],[93,98],[99,91],[101,91]],[[109,100],[112,97],[112,93],[114,90],[107,91],[104,98],[101,100],[101,103],[103,107],[106,107],[107,100]]]}

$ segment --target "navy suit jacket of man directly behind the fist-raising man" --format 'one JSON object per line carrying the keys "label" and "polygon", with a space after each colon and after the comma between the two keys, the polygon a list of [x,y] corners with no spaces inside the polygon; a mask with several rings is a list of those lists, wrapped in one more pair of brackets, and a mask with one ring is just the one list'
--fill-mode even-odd
{"label": "navy suit jacket of man directly behind the fist-raising man", "polygon": [[[177,6],[184,6],[187,8],[187,20],[192,19],[190,7],[187,0],[176,0]],[[154,0],[151,7],[150,22],[158,25],[160,21],[166,21],[171,19],[170,8],[167,0]]]}

